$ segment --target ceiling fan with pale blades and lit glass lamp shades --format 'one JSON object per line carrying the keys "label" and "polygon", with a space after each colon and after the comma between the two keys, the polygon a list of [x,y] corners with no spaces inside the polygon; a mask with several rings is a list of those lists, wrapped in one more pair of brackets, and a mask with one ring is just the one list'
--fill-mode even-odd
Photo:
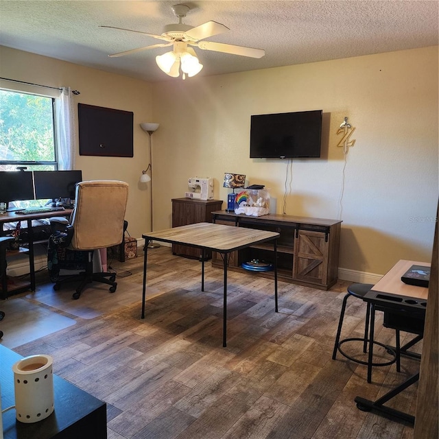
{"label": "ceiling fan with pale blades and lit glass lamp shades", "polygon": [[166,25],[163,34],[155,35],[148,34],[147,32],[141,32],[132,29],[123,29],[121,27],[113,26],[99,26],[107,27],[109,29],[126,30],[129,32],[137,32],[147,36],[152,36],[158,40],[164,40],[165,43],[158,43],[150,46],[139,47],[137,49],[126,50],[119,52],[118,54],[108,55],[111,58],[117,56],[125,56],[135,54],[139,51],[156,49],[158,47],[173,46],[173,50],[163,55],[156,56],[156,63],[161,70],[167,75],[174,78],[180,76],[180,67],[183,72],[183,79],[187,74],[189,77],[196,75],[201,71],[203,65],[198,61],[198,57],[192,47],[198,47],[203,50],[211,50],[217,52],[223,52],[224,54],[233,54],[240,56],[248,56],[250,58],[261,58],[265,55],[263,49],[253,49],[252,47],[235,46],[224,43],[213,43],[212,41],[202,41],[204,38],[209,38],[217,34],[222,34],[228,31],[228,27],[217,23],[216,21],[207,21],[206,23],[193,27],[182,23],[182,19],[189,12],[189,6],[187,5],[174,5],[171,7],[174,14],[178,18],[178,23]]}

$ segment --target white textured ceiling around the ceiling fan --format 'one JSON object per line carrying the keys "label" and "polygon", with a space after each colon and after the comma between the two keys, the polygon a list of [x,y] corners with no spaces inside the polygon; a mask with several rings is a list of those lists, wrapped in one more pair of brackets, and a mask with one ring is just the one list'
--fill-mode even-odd
{"label": "white textured ceiling around the ceiling fan", "polygon": [[[178,23],[171,10],[178,3],[0,0],[0,45],[151,82],[175,81],[155,63],[169,47],[108,58],[160,40],[99,25],[161,34],[164,25]],[[195,48],[204,64],[198,76],[438,45],[436,0],[180,3],[191,8],[183,23],[213,20],[230,29],[206,40],[265,49],[254,59]]]}

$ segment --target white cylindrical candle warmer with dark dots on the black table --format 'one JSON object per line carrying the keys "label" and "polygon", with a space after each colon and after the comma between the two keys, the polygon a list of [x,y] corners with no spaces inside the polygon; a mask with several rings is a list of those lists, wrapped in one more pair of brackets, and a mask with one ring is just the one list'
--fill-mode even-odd
{"label": "white cylindrical candle warmer with dark dots on the black table", "polygon": [[12,366],[16,419],[21,423],[36,423],[54,412],[53,363],[50,355],[31,355]]}

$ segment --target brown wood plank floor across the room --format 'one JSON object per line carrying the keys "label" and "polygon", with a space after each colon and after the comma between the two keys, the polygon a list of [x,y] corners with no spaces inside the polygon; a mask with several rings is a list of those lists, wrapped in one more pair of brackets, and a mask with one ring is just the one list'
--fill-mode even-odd
{"label": "brown wood plank floor across the room", "polygon": [[[280,282],[275,313],[272,281],[229,272],[223,348],[222,270],[206,263],[202,293],[200,262],[163,246],[149,250],[141,320],[141,254],[111,265],[120,275],[117,292],[93,286],[75,301],[89,309],[99,305],[95,317],[78,317],[40,299],[38,289],[49,288],[44,272],[37,294],[14,296],[75,319],[73,326],[14,351],[51,355],[56,374],[106,401],[108,438],[413,438],[409,425],[362,412],[353,400],[379,398],[416,372],[418,361],[403,357],[400,373],[394,365],[374,368],[368,384],[366,366],[340,354],[331,359],[347,282],[329,292]],[[72,291],[73,286],[53,294],[69,305]],[[348,303],[342,337],[361,337],[364,302]],[[394,344],[394,332],[377,314],[377,339]],[[360,355],[361,345],[352,352]],[[389,405],[414,414],[416,385]]]}

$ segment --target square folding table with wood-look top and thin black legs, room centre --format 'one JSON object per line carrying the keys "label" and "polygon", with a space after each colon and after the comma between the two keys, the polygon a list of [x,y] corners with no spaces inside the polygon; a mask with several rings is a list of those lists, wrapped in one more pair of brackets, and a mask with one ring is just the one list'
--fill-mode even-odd
{"label": "square folding table with wood-look top and thin black legs, room centre", "polygon": [[226,346],[226,318],[227,318],[227,262],[230,252],[241,250],[241,248],[250,247],[265,241],[273,241],[274,257],[274,302],[275,311],[278,311],[277,305],[277,242],[279,234],[276,232],[265,232],[250,228],[230,227],[221,224],[211,224],[200,222],[151,232],[142,237],[145,239],[145,259],[143,261],[143,290],[142,290],[142,315],[145,318],[145,292],[146,292],[146,272],[147,272],[147,248],[150,241],[163,241],[180,246],[193,246],[202,250],[202,277],[201,291],[204,292],[204,261],[206,251],[215,251],[221,254],[224,262],[224,306],[223,306],[223,346]]}

